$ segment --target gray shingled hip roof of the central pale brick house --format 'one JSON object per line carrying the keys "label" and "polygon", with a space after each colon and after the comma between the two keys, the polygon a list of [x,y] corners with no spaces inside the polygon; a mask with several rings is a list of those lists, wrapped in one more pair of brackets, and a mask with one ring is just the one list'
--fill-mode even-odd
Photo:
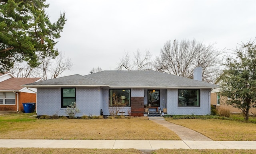
{"label": "gray shingled hip roof of the central pale brick house", "polygon": [[79,74],[27,84],[29,87],[86,86],[110,88],[217,88],[215,84],[200,82],[189,78],[174,76],[156,71],[118,71],[106,70],[81,76]]}

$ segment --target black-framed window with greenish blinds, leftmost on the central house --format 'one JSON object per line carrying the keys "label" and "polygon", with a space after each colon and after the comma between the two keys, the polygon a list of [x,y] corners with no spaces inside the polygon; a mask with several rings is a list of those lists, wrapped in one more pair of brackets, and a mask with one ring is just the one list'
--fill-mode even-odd
{"label": "black-framed window with greenish blinds, leftmost on the central house", "polygon": [[61,107],[67,107],[76,102],[76,88],[61,88]]}

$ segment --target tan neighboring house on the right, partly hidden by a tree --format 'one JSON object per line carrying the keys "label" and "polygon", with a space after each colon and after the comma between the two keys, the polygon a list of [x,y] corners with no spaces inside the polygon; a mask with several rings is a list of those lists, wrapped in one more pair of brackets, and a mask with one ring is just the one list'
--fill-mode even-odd
{"label": "tan neighboring house on the right, partly hidden by a tree", "polygon": [[[216,80],[214,84],[220,84],[220,80]],[[227,105],[225,104],[226,100],[228,99],[227,97],[221,96],[220,95],[221,88],[215,88],[211,91],[211,104],[215,105],[216,108],[224,108],[224,109],[229,109],[230,112],[232,113],[242,113],[242,110],[233,107],[232,105]],[[253,113],[254,115],[256,114],[256,108],[250,108],[249,113]]]}

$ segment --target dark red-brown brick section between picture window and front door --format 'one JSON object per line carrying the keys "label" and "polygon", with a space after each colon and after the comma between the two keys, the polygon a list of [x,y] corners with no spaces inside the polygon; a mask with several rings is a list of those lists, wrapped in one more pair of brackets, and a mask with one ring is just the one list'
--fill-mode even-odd
{"label": "dark red-brown brick section between picture window and front door", "polygon": [[144,97],[131,97],[131,115],[144,116]]}

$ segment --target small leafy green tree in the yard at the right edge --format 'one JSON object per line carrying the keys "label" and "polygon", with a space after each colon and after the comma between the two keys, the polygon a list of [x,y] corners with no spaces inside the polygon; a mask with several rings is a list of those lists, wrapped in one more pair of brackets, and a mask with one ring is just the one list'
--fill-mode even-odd
{"label": "small leafy green tree in the yard at the right edge", "polygon": [[227,58],[227,68],[221,77],[221,94],[229,99],[226,104],[241,109],[249,119],[249,109],[256,107],[256,43],[248,41],[236,48],[236,59]]}

